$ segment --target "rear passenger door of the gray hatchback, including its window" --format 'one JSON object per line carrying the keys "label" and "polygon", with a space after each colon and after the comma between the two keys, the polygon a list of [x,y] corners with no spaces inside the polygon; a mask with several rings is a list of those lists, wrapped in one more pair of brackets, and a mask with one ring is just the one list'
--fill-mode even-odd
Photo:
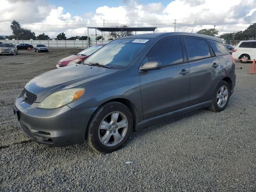
{"label": "rear passenger door of the gray hatchback, including its window", "polygon": [[212,100],[220,77],[218,58],[204,38],[184,37],[190,67],[189,106]]}

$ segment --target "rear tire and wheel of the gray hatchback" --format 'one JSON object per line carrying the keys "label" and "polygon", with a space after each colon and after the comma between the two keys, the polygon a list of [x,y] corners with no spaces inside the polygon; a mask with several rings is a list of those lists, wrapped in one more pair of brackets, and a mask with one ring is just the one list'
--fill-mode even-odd
{"label": "rear tire and wheel of the gray hatchback", "polygon": [[[224,94],[221,93],[220,88],[224,88]],[[227,93],[225,92],[227,90]],[[225,94],[226,93],[226,94]],[[228,101],[230,98],[230,87],[229,84],[226,81],[221,81],[218,86],[216,87],[213,97],[212,97],[212,105],[208,108],[211,111],[214,112],[221,112],[226,108],[228,105]],[[226,100],[226,102],[224,102]]]}

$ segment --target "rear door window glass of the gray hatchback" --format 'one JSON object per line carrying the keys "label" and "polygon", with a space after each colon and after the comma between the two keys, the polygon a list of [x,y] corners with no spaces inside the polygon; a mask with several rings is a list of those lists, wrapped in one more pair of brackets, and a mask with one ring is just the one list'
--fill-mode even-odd
{"label": "rear door window glass of the gray hatchback", "polygon": [[211,56],[210,47],[204,39],[185,38],[190,61]]}

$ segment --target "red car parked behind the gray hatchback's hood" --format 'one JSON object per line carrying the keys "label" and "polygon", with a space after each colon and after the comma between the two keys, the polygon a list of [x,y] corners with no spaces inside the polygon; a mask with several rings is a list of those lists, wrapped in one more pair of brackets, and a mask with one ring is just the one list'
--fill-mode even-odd
{"label": "red car parked behind the gray hatchback's hood", "polygon": [[106,44],[94,45],[94,46],[91,46],[91,47],[77,53],[77,54],[65,57],[58,62],[58,64],[56,65],[56,68],[80,63],[80,62],[86,60],[91,54],[93,54],[94,52],[96,52],[97,50],[102,48],[104,45],[106,45]]}

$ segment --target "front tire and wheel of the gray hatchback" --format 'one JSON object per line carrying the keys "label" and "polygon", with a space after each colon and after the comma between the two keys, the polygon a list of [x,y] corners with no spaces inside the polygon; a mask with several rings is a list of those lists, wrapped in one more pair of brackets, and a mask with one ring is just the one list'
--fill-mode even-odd
{"label": "front tire and wheel of the gray hatchback", "polygon": [[[121,124],[124,127],[118,128],[122,127]],[[99,153],[110,153],[127,142],[132,128],[133,117],[129,108],[120,102],[107,102],[92,116],[86,130],[86,142]]]}

